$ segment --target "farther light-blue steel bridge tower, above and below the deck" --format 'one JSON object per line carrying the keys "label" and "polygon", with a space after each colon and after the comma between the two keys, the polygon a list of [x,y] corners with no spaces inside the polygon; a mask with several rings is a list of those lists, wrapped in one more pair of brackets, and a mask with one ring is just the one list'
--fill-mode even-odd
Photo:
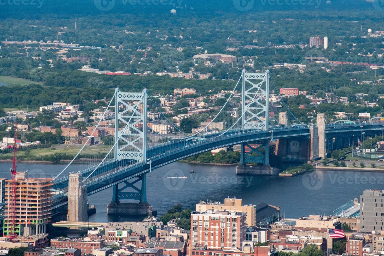
{"label": "farther light-blue steel bridge tower, above and below the deck", "polygon": [[[268,130],[269,129],[269,71],[265,73],[242,73],[242,130]],[[245,152],[245,146],[250,151]],[[259,149],[265,147],[265,153]],[[256,152],[259,156],[250,156]],[[269,165],[268,140],[254,148],[249,144],[241,145],[240,164],[247,162],[258,162]]]}

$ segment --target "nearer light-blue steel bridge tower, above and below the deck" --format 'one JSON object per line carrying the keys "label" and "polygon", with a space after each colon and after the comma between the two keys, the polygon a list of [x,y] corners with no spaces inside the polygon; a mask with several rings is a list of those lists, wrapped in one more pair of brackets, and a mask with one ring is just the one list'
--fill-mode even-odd
{"label": "nearer light-blue steel bridge tower, above and below the deck", "polygon": [[[142,92],[122,92],[115,89],[115,137],[119,139],[114,148],[116,163],[124,165],[127,161],[146,162],[147,153],[147,89]],[[122,128],[126,127],[124,130]],[[135,186],[141,181],[141,188]],[[119,203],[120,199],[139,200],[147,203],[146,173],[137,177],[132,182],[124,181],[125,185],[119,188],[113,187],[113,203]],[[129,188],[130,192],[123,190]],[[132,190],[134,192],[132,192]]]}

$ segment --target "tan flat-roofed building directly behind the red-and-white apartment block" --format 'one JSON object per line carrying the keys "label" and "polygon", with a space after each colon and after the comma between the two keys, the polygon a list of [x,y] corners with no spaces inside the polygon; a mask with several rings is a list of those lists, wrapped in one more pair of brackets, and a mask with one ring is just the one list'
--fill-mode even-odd
{"label": "tan flat-roofed building directly behind the red-and-white apartment block", "polygon": [[224,203],[221,202],[205,202],[200,200],[196,204],[196,211],[230,211],[238,213],[247,213],[247,225],[256,226],[256,205],[243,205],[242,199],[233,198],[224,198]]}

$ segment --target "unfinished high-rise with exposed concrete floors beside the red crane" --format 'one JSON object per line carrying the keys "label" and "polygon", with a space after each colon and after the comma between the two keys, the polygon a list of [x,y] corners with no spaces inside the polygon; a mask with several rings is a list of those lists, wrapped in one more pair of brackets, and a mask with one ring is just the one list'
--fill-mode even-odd
{"label": "unfinished high-rise with exposed concrete floors beside the red crane", "polygon": [[[6,180],[5,200],[10,202],[12,195],[12,181]],[[51,189],[52,179],[28,178],[27,172],[16,175],[16,206],[15,206],[15,235],[16,240],[38,241],[44,244],[46,225],[52,218]],[[10,237],[12,220],[10,206],[5,207],[4,236]]]}

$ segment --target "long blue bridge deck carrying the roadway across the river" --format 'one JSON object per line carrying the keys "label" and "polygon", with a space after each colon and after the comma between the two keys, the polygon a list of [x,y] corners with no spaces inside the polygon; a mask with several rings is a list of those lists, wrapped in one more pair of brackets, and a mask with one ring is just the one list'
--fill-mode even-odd
{"label": "long blue bridge deck carrying the roadway across the river", "polygon": [[[367,131],[383,131],[384,123],[358,123],[358,124],[327,124],[326,137],[349,137],[352,134],[360,135],[361,132]],[[147,160],[151,162],[137,162],[136,164],[125,166],[126,161],[109,160],[84,181],[87,186],[87,195],[92,195],[101,190],[113,187],[123,181],[138,177],[143,173],[162,167],[164,165],[176,162],[180,159],[200,154],[221,147],[228,147],[241,143],[258,142],[271,139],[293,138],[310,136],[310,128],[305,125],[289,126],[289,127],[270,127],[266,130],[243,130],[230,131],[224,135],[208,134],[204,139],[184,139],[174,143],[162,144],[147,149]],[[81,170],[83,177],[91,173],[94,168]],[[54,188],[64,192],[68,189],[68,178],[64,177],[55,181]],[[66,204],[67,201],[59,200],[53,208]]]}

